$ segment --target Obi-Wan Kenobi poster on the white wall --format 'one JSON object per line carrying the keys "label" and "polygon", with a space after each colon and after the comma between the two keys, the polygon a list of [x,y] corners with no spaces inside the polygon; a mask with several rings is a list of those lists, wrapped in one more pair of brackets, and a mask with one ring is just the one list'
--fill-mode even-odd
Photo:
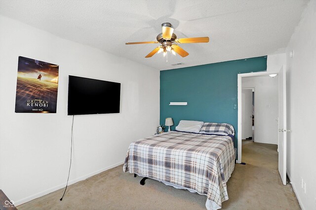
{"label": "Obi-Wan Kenobi poster on the white wall", "polygon": [[58,65],[20,56],[16,113],[56,113]]}

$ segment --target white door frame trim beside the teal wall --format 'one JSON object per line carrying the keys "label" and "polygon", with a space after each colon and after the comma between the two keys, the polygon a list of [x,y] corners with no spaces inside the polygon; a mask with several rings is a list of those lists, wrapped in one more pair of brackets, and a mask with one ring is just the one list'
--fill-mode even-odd
{"label": "white door frame trim beside the teal wall", "polygon": [[251,72],[251,73],[243,73],[237,75],[237,101],[238,101],[238,129],[237,129],[237,163],[241,163],[241,147],[242,147],[242,78],[243,77],[255,77],[255,76],[267,76],[269,74],[278,74],[278,72],[274,71],[260,71],[260,72]]}

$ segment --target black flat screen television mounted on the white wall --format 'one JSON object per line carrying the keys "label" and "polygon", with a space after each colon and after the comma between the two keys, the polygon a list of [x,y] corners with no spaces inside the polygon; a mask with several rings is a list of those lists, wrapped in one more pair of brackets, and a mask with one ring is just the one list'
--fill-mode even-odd
{"label": "black flat screen television mounted on the white wall", "polygon": [[120,83],[69,75],[68,115],[119,113]]}

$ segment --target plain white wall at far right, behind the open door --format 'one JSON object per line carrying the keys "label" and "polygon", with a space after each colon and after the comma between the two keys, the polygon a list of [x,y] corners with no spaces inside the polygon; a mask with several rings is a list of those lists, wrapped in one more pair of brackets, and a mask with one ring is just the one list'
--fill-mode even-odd
{"label": "plain white wall at far right, behind the open door", "polygon": [[[316,209],[316,0],[311,0],[286,50],[287,173],[304,210]],[[294,51],[293,58],[289,52]],[[301,188],[306,182],[306,193]]]}

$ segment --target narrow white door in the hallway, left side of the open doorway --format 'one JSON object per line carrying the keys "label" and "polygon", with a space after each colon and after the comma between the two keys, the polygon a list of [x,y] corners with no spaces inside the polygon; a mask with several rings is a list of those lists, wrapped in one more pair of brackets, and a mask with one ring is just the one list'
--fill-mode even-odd
{"label": "narrow white door in the hallway, left side of the open doorway", "polygon": [[252,137],[252,90],[242,89],[242,139]]}

